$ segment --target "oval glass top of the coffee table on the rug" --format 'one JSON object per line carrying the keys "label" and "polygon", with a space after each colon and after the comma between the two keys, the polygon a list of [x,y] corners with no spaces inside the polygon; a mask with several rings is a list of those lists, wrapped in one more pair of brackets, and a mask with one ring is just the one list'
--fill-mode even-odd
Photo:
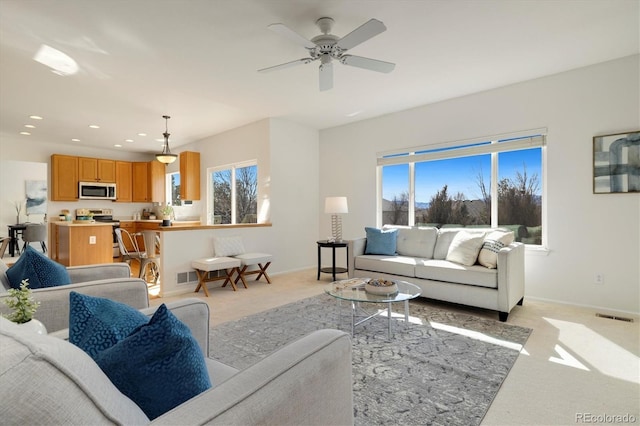
{"label": "oval glass top of the coffee table on the rug", "polygon": [[371,294],[364,289],[364,284],[369,280],[370,278],[352,278],[334,281],[325,287],[324,292],[342,300],[371,303],[404,302],[405,300],[415,299],[422,293],[420,287],[415,284],[394,280],[398,285],[396,293]]}

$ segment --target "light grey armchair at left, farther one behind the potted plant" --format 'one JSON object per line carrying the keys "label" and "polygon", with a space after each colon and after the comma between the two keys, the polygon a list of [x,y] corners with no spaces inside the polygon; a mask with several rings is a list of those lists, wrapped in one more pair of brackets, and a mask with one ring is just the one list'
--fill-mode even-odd
{"label": "light grey armchair at left, farther one behind the potted plant", "polygon": [[[0,260],[0,314],[10,313],[2,303],[8,297],[9,281],[6,264]],[[35,317],[41,321],[49,333],[69,327],[69,293],[76,291],[89,296],[104,297],[136,308],[149,307],[147,284],[131,277],[131,269],[126,263],[105,263],[100,265],[72,266],[67,268],[71,284],[32,290],[33,298],[40,302]]]}

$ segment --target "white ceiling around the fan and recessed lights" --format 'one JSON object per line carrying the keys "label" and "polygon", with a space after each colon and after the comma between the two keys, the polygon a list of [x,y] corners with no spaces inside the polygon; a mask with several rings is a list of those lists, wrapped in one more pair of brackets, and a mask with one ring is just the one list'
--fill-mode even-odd
{"label": "white ceiling around the fan and recessed lights", "polygon": [[[157,152],[165,114],[172,147],[266,117],[323,129],[637,54],[639,15],[638,0],[0,0],[0,135]],[[256,72],[306,56],[267,25],[312,38],[323,16],[340,37],[383,21],[349,53],[395,70],[335,64],[327,92],[317,62]],[[80,72],[35,62],[41,44]]]}

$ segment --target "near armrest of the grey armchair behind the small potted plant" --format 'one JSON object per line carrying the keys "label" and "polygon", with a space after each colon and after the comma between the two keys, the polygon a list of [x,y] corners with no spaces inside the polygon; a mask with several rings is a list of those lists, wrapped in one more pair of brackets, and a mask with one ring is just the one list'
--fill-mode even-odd
{"label": "near armrest of the grey armchair behind the small potted plant", "polygon": [[[35,318],[47,327],[48,332],[69,327],[69,294],[72,291],[126,303],[135,309],[144,309],[149,306],[147,283],[140,278],[111,278],[34,289],[33,298],[40,302]],[[9,296],[0,295],[0,313],[2,314],[11,312],[2,303],[2,299],[6,297]]]}

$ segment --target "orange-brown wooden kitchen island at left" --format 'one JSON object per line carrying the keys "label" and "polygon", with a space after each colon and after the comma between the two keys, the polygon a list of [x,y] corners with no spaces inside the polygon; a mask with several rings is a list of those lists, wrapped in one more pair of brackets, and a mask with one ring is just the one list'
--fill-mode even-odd
{"label": "orange-brown wooden kitchen island at left", "polygon": [[49,256],[64,266],[113,262],[110,223],[54,221],[49,224]]}

